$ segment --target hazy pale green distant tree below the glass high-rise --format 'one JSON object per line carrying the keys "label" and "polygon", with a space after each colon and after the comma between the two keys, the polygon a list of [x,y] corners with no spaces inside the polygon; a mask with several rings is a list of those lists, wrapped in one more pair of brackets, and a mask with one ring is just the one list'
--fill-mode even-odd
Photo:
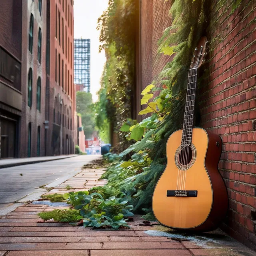
{"label": "hazy pale green distant tree below the glass high-rise", "polygon": [[81,114],[85,138],[91,138],[95,129],[95,114],[90,92],[76,92],[76,112]]}

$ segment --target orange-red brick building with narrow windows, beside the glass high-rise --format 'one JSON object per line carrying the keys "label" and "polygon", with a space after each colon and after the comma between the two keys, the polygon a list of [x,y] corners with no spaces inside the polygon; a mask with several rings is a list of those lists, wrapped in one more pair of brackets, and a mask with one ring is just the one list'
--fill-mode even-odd
{"label": "orange-red brick building with narrow windows, beside the glass high-rise", "polygon": [[46,155],[74,153],[73,32],[73,0],[47,0]]}

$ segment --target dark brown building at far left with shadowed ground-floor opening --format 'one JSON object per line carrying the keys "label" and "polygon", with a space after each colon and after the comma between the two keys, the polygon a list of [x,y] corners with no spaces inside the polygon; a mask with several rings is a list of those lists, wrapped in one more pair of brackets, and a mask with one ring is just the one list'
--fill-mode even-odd
{"label": "dark brown building at far left with shadowed ground-floor opening", "polygon": [[22,110],[22,0],[0,1],[0,158],[18,156]]}

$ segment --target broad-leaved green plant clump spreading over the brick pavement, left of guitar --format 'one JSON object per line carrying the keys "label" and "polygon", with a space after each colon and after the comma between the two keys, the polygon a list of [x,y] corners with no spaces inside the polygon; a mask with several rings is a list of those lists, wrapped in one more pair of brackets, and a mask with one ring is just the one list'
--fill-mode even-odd
{"label": "broad-leaved green plant clump spreading over the brick pavement, left of guitar", "polygon": [[[97,191],[97,192],[95,192]],[[116,194],[116,196],[112,196]],[[79,210],[85,227],[129,228],[125,217],[133,216],[132,205],[128,205],[126,195],[116,189],[101,187],[90,191],[69,192],[63,195],[74,209]]]}

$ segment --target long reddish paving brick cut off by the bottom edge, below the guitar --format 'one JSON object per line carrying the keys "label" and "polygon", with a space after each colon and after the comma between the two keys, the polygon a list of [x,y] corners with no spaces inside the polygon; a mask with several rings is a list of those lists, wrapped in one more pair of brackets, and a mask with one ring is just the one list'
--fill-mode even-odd
{"label": "long reddish paving brick cut off by the bottom edge, below the guitar", "polygon": [[[91,256],[190,256],[190,252],[188,250],[91,250]],[[16,256],[16,255],[15,255]]]}

